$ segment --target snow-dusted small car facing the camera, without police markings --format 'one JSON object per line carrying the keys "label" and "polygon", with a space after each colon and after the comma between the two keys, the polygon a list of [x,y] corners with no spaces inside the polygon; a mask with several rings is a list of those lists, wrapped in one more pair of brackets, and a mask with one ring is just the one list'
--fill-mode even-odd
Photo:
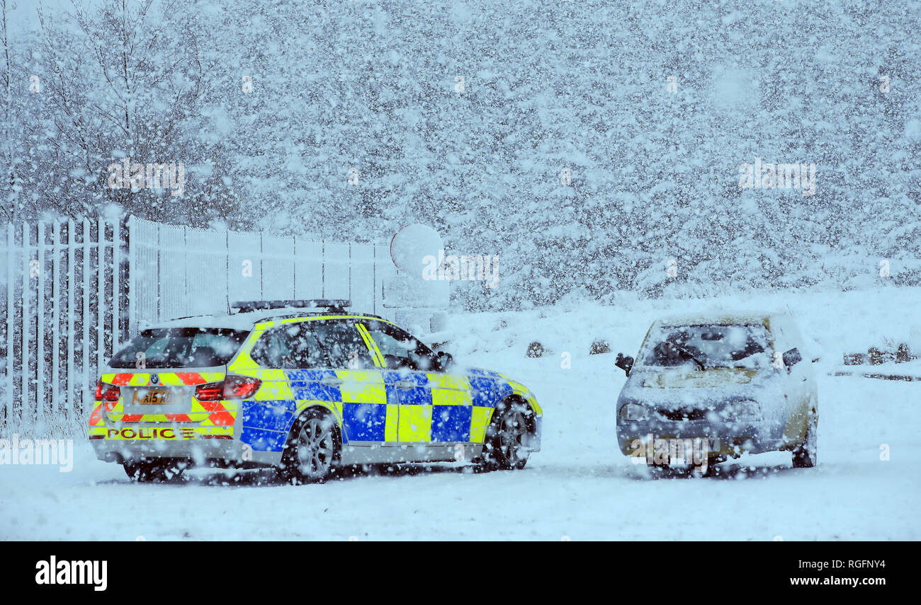
{"label": "snow-dusted small car facing the camera, without police markings", "polygon": [[704,470],[743,452],[792,451],[794,466],[814,466],[819,402],[803,347],[782,314],[655,321],[636,359],[615,362],[627,374],[616,408],[621,451],[636,463],[694,460]]}

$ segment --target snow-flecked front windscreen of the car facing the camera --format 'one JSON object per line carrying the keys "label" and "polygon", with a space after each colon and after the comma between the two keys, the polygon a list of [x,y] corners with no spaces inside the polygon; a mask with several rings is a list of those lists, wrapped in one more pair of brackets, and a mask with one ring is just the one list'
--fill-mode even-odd
{"label": "snow-flecked front windscreen of the car facing the camera", "polygon": [[649,333],[639,365],[758,369],[772,361],[764,324],[659,325]]}

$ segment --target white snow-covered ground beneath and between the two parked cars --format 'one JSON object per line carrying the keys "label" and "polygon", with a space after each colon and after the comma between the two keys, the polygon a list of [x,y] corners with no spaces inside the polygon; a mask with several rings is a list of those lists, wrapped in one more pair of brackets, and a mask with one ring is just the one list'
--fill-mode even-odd
{"label": "white snow-covered ground beneath and between the two parked cars", "polygon": [[[409,466],[301,486],[268,472],[196,471],[139,485],[78,441],[71,473],[0,466],[0,539],[918,540],[921,384],[828,375],[842,353],[916,343],[918,302],[921,291],[883,289],[459,317],[458,360],[507,373],[543,405],[543,449],[523,471]],[[613,402],[624,373],[614,354],[634,355],[659,314],[715,308],[799,317],[810,356],[822,358],[817,468],[793,469],[777,452],[727,462],[717,477],[648,476],[617,450]],[[595,338],[612,353],[589,355]],[[535,339],[552,352],[527,358]]]}

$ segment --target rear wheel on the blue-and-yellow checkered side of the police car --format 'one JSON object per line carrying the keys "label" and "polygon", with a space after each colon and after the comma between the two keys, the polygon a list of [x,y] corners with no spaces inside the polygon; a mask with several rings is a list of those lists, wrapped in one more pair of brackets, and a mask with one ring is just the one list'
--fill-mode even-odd
{"label": "rear wheel on the blue-and-yellow checkered side of the police car", "polygon": [[295,485],[324,483],[335,473],[342,446],[333,417],[312,408],[291,428],[282,452],[283,476]]}

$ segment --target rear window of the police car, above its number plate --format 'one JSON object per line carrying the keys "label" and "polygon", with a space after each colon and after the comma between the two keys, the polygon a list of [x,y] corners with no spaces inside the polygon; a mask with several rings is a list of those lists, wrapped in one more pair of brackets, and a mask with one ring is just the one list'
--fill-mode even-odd
{"label": "rear window of the police car, above its number plate", "polygon": [[229,328],[149,328],[128,341],[112,368],[213,368],[225,365],[249,335]]}

